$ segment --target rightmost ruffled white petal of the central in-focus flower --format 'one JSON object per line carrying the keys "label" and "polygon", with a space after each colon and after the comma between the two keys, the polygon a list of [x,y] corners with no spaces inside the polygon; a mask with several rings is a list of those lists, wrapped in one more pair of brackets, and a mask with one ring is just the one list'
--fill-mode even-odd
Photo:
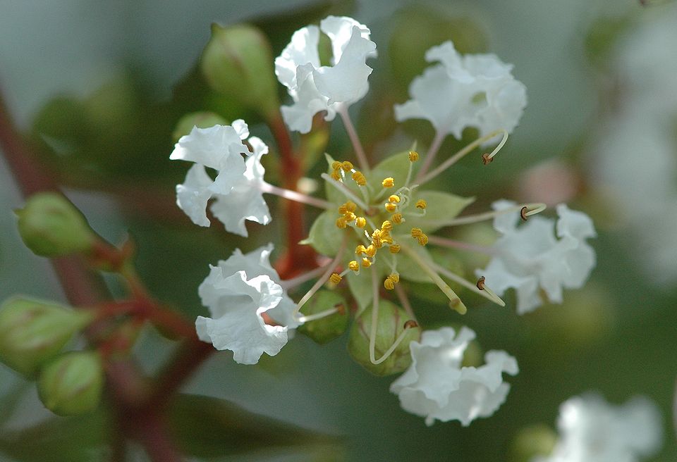
{"label": "rightmost ruffled white petal of the central in-focus flower", "polygon": [[[496,201],[494,210],[502,210],[515,204],[511,201]],[[502,236],[496,239],[496,252],[484,270],[487,285],[496,294],[502,295],[513,287],[517,291],[517,312],[533,311],[542,304],[539,287],[549,301],[562,302],[563,287],[579,289],[594,267],[595,255],[585,239],[594,237],[594,226],[583,212],[572,211],[565,204],[557,206],[559,220],[554,237],[554,220],[532,216],[518,227],[518,213],[496,216],[494,227]]]}

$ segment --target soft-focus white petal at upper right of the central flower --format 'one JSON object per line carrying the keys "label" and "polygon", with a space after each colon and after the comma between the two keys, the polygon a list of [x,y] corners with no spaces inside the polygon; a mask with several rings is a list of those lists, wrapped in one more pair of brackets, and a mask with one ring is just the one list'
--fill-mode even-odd
{"label": "soft-focus white petal at upper right of the central flower", "polygon": [[423,118],[437,132],[457,139],[465,127],[477,127],[480,136],[517,126],[527,105],[525,86],[511,74],[513,68],[493,54],[461,56],[451,42],[429,49],[425,58],[439,61],[416,77],[412,97],[395,106],[398,122]]}

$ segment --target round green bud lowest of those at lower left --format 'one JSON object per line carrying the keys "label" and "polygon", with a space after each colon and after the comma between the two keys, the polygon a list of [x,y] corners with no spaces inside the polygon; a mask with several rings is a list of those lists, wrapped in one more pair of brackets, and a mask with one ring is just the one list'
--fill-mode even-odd
{"label": "round green bud lowest of those at lower left", "polygon": [[46,408],[59,416],[94,411],[99,406],[104,371],[99,354],[71,351],[49,363],[40,373],[37,392]]}

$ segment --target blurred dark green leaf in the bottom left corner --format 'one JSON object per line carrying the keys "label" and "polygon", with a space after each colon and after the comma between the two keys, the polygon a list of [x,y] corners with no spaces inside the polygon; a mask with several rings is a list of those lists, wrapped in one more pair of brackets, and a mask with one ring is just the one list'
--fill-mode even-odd
{"label": "blurred dark green leaf in the bottom left corner", "polygon": [[91,462],[106,443],[103,412],[51,418],[25,430],[0,431],[0,453],[20,462]]}

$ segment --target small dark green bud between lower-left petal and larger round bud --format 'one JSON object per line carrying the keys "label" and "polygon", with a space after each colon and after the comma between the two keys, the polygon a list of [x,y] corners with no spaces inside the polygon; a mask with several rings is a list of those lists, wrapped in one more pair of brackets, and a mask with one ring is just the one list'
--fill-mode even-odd
{"label": "small dark green bud between lower-left petal and larger round bud", "polygon": [[340,337],[348,329],[350,316],[348,316],[346,309],[346,300],[336,292],[331,292],[331,290],[317,292],[303,305],[303,315],[312,316],[331,308],[338,308],[338,311],[324,318],[308,321],[298,327],[298,332],[307,335],[321,345]]}

